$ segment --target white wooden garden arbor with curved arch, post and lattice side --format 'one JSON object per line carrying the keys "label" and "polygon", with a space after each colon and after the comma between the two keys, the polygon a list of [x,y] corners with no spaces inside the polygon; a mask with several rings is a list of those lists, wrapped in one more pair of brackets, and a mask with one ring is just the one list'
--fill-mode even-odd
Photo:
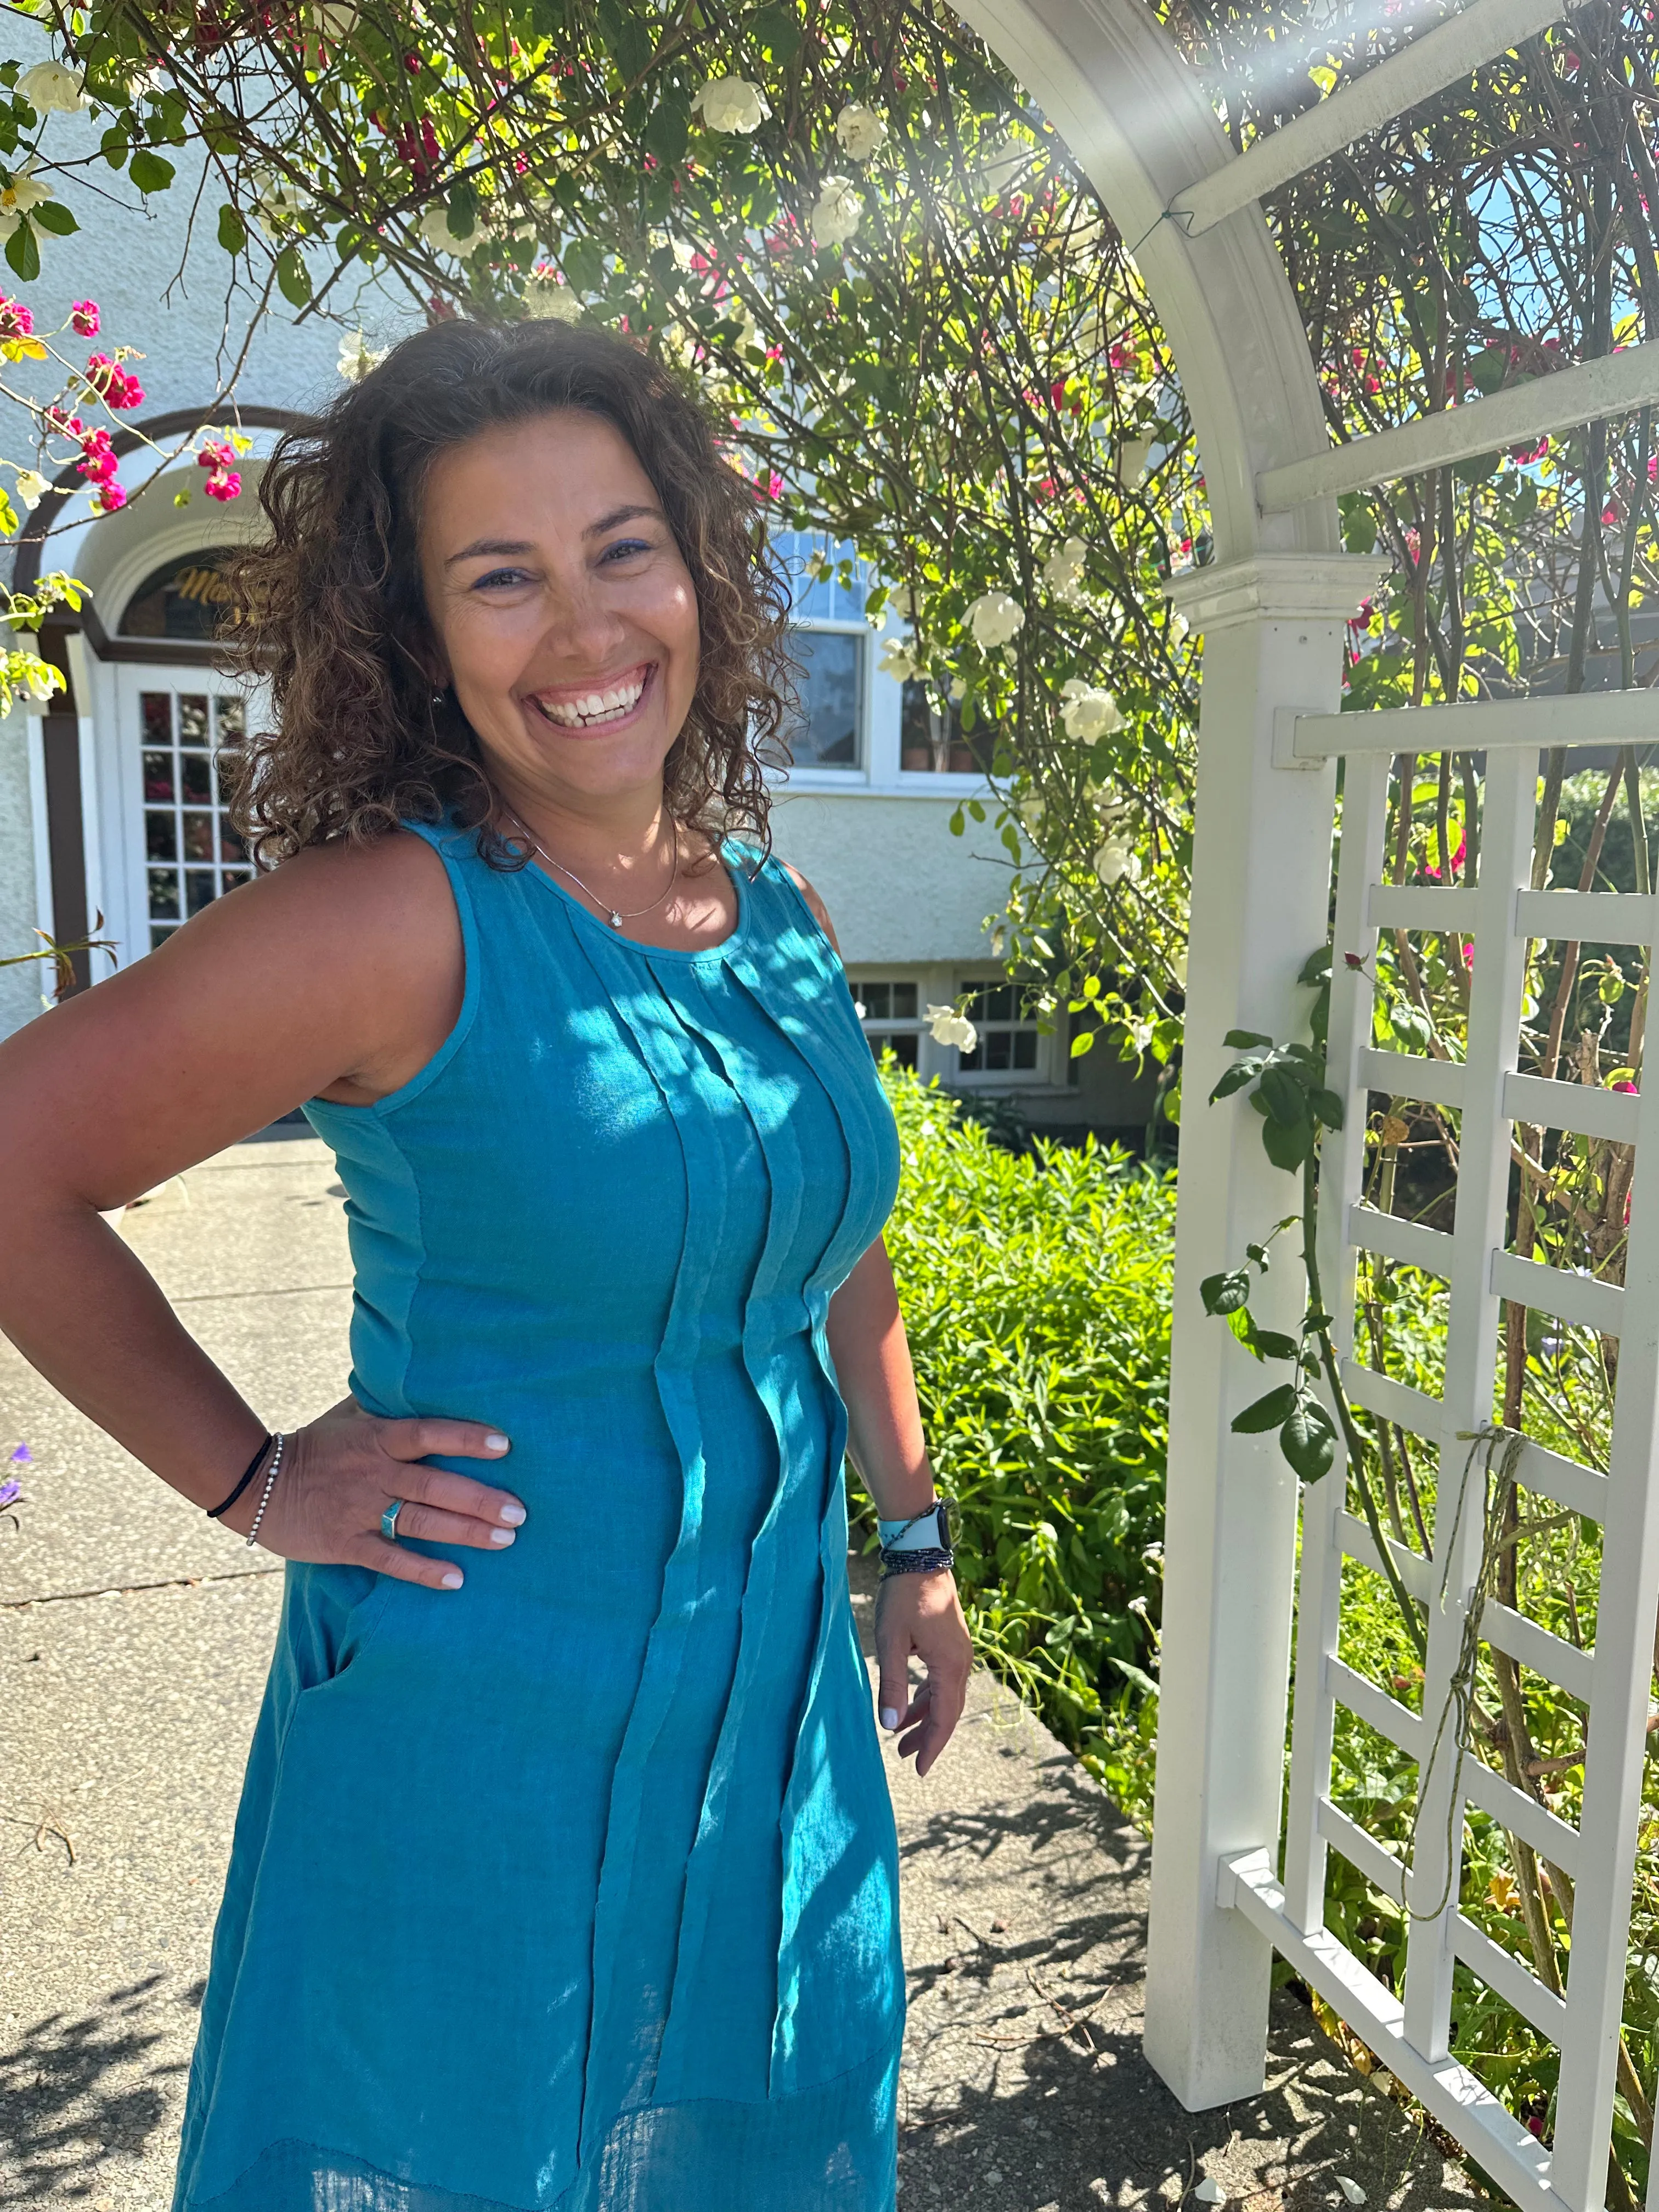
{"label": "white wooden garden arbor with curved arch, post and lattice side", "polygon": [[[1343,626],[1380,562],[1340,553],[1336,493],[1659,403],[1659,343],[1332,449],[1301,319],[1259,208],[1261,192],[1562,18],[1566,0],[1471,0],[1243,157],[1139,0],[964,0],[964,13],[1062,131],[1135,246],[1192,407],[1214,518],[1214,564],[1177,586],[1177,604],[1206,633],[1206,661],[1146,2051],[1190,2110],[1259,2090],[1279,1951],[1517,2203],[1595,2212],[1606,2188],[1659,1588],[1659,1130],[1639,1141],[1659,1104],[1540,1084],[1515,1073],[1515,1053],[1528,936],[1650,945],[1659,931],[1655,900],[1593,898],[1586,907],[1577,894],[1524,889],[1540,748],[1655,741],[1659,703],[1644,692],[1338,717]],[[1489,763],[1478,887],[1380,887],[1389,759],[1453,748],[1482,750]],[[1522,1467],[1526,1489],[1606,1528],[1595,1652],[1504,1608],[1489,1606],[1484,1617],[1489,1644],[1590,1701],[1582,1823],[1568,1827],[1473,1761],[1462,1767],[1469,1801],[1577,1874],[1564,2000],[1462,1920],[1455,1882],[1444,1909],[1411,1927],[1405,2002],[1325,1931],[1329,1849],[1400,1898],[1398,1865],[1329,1803],[1336,1705],[1413,1759],[1427,1756],[1422,1723],[1336,1659],[1340,1562],[1376,1564],[1365,1526],[1343,1511],[1340,1471],[1305,1495],[1296,1590],[1296,1482],[1276,1438],[1230,1431],[1234,1411],[1263,1387],[1261,1367],[1199,1303],[1199,1281],[1237,1265],[1245,1241],[1294,1203],[1285,1177],[1263,1159],[1256,1117],[1237,1102],[1206,1110],[1203,1099],[1230,1057],[1225,1031],[1301,1033],[1307,995],[1296,971],[1327,931],[1338,754],[1349,763],[1338,956],[1369,951],[1378,925],[1458,927],[1475,945],[1469,1057],[1451,1071],[1378,1055],[1369,982],[1338,958],[1329,1082],[1343,1088],[1349,1115],[1340,1144],[1327,1139],[1321,1237],[1343,1349],[1356,1248],[1411,1261],[1451,1285],[1444,1398],[1378,1383],[1349,1363],[1354,1396],[1429,1449],[1447,1447],[1449,1495],[1469,1451],[1460,1433],[1491,1416],[1502,1296],[1621,1343],[1610,1475],[1535,1447]],[[1354,1206],[1367,1091],[1376,1086],[1462,1108],[1455,1237],[1431,1239]],[[1624,1292],[1504,1250],[1511,1119],[1637,1141]],[[1301,1285],[1279,1281],[1279,1296],[1276,1325],[1294,1325]],[[1442,1515],[1447,1528],[1451,1520]],[[1471,1511],[1451,1559],[1400,1555],[1418,1595],[1433,1599],[1422,1694],[1431,1717],[1455,1663],[1478,1546],[1480,1513]],[[1449,1601],[1440,1608],[1447,1568]],[[1296,1736],[1281,1836],[1296,1604]],[[1442,1752],[1422,1790],[1420,1911],[1444,1885],[1451,1772]],[[1449,2053],[1453,1960],[1559,2046],[1551,2150]],[[1652,2084],[1646,2088],[1652,2095]],[[1648,2208],[1659,2212],[1659,2185]]]}

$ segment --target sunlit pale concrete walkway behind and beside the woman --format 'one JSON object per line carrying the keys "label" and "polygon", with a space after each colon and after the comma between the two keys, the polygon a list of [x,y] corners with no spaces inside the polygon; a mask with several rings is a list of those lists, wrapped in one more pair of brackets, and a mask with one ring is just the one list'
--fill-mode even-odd
{"label": "sunlit pale concrete walkway behind and beside the woman", "polygon": [[[292,1427],[345,1387],[349,1265],[327,1150],[243,1144],[126,1217],[192,1334]],[[0,1340],[0,2201],[161,2212],[276,1571]],[[867,1613],[867,1575],[860,1573]],[[1270,2086],[1183,2112],[1141,2059],[1146,1843],[989,1679],[936,1772],[894,1761],[905,1867],[907,2205],[1254,2212],[1478,2203],[1290,1997]],[[732,2212],[743,2212],[734,2205]]]}

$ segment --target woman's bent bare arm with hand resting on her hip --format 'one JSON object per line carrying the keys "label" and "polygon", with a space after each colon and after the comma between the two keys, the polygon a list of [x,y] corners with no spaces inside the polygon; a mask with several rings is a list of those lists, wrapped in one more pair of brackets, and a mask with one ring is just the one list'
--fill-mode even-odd
{"label": "woman's bent bare arm with hand resting on her hip", "polygon": [[[418,841],[398,838],[361,854],[301,854],[0,1046],[0,1219],[9,1245],[0,1329],[195,1504],[226,1495],[263,1422],[100,1210],[321,1091],[367,1099],[394,1088],[438,1042],[422,1033],[434,1000],[449,1004],[453,1020],[458,993],[458,925],[440,863]],[[422,1442],[409,1458],[482,1449],[478,1422],[442,1427],[465,1427],[473,1442]],[[281,1478],[283,1509],[272,1500],[261,1528],[272,1548],[363,1559],[349,1548],[356,1531],[290,1509],[305,1504],[307,1484],[336,1460],[378,1467],[380,1458],[400,1460],[414,1438],[396,1433],[385,1451],[376,1442],[365,1460],[367,1442],[343,1411],[321,1442],[305,1444],[301,1431]],[[416,1495],[438,1469],[409,1475]],[[232,1526],[246,1526],[252,1506],[254,1498],[243,1498]],[[354,1502],[361,1520],[358,1509],[367,1511],[365,1500]],[[292,1548],[283,1531],[310,1551]],[[389,1544],[383,1551],[418,1559]]]}

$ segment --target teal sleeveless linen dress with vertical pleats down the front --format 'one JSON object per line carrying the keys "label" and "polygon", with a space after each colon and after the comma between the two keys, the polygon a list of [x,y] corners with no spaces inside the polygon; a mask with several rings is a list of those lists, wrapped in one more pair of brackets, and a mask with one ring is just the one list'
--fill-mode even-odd
{"label": "teal sleeveless linen dress with vertical pleats down the front", "polygon": [[436,1593],[288,1568],[175,2212],[891,2212],[898,1854],[847,1597],[830,1294],[898,1141],[832,947],[633,945],[418,827],[451,1035],[312,1102],[352,1394],[513,1440]]}

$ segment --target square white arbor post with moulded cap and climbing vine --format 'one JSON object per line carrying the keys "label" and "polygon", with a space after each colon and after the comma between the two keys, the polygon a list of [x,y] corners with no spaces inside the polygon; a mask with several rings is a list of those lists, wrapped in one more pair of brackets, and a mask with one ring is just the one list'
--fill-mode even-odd
{"label": "square white arbor post with moulded cap and climbing vine", "polygon": [[[1274,1378],[1199,1303],[1208,1274],[1296,1212],[1243,1102],[1208,1106],[1230,1029],[1303,1031],[1296,971],[1325,942],[1334,770],[1274,768],[1279,708],[1332,712],[1343,624],[1378,562],[1265,553],[1183,577],[1172,597],[1206,633],[1164,1564],[1157,1856],[1146,2055],[1188,2110],[1261,2088],[1272,1947],[1217,1907],[1223,1856],[1279,1843],[1296,1478],[1276,1436],[1232,1416]],[[1301,1316],[1294,1232],[1259,1298]],[[1274,1312],[1276,1307],[1276,1312]]]}

